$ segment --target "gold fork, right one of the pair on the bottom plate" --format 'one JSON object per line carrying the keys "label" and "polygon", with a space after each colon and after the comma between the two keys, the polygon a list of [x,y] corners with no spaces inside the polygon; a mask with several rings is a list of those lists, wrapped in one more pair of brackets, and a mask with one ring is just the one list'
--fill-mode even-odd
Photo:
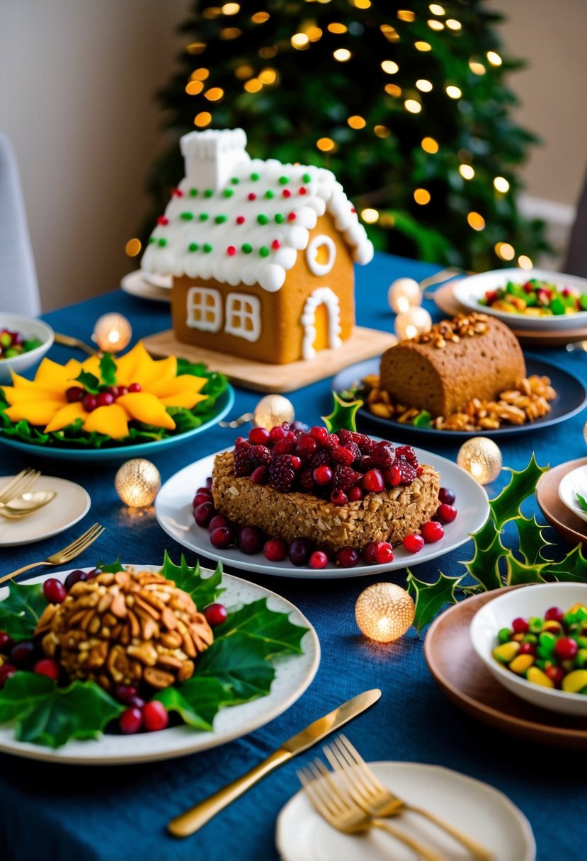
{"label": "gold fork, right one of the pair on the bottom plate", "polygon": [[350,743],[347,737],[340,734],[333,744],[323,747],[324,754],[330,762],[334,771],[340,773],[345,778],[346,788],[349,790],[350,796],[355,803],[372,816],[397,816],[404,810],[411,810],[412,813],[417,813],[424,816],[430,822],[442,828],[442,830],[451,835],[455,840],[465,846],[471,852],[474,861],[491,861],[493,855],[485,846],[481,846],[477,840],[468,837],[458,828],[455,828],[450,823],[445,822],[439,816],[429,813],[428,810],[415,807],[412,804],[407,804],[398,796],[380,783],[380,780],[375,777],[373,771],[368,767],[361,754],[356,750],[355,746]]}

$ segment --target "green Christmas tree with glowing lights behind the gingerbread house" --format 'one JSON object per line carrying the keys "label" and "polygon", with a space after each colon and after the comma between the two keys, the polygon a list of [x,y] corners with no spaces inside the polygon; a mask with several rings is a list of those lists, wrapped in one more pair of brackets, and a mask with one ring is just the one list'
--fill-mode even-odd
{"label": "green Christmas tree with glowing lights behind the gingerbread house", "polygon": [[177,138],[243,127],[259,158],[334,171],[376,247],[466,269],[532,265],[543,225],[517,206],[534,135],[516,125],[501,16],[485,0],[195,2],[159,93],[170,146],[154,209],[182,177]]}

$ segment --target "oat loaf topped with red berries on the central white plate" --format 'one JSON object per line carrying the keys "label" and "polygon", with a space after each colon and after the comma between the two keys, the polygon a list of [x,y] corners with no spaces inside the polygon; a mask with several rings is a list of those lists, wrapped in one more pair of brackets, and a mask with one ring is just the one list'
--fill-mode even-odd
{"label": "oat loaf topped with red berries on the central white plate", "polygon": [[398,544],[436,513],[439,475],[411,446],[294,422],[253,428],[217,455],[213,505],[240,526],[324,548]]}

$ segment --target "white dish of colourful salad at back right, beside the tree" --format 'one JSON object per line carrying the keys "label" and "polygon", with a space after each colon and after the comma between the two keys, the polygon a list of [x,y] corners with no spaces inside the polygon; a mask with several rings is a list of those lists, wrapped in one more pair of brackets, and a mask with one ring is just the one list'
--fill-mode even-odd
{"label": "white dish of colourful salad at back right, beside the tree", "polygon": [[472,311],[491,314],[503,320],[512,329],[577,329],[587,325],[587,311],[575,314],[559,314],[552,317],[530,317],[527,314],[511,314],[506,311],[494,311],[479,304],[479,299],[485,296],[485,290],[495,290],[505,287],[507,282],[527,282],[530,278],[540,278],[542,281],[556,284],[557,287],[576,287],[581,293],[587,293],[587,279],[574,275],[564,275],[562,272],[547,272],[546,269],[491,269],[480,275],[468,276],[454,285],[454,298]]}

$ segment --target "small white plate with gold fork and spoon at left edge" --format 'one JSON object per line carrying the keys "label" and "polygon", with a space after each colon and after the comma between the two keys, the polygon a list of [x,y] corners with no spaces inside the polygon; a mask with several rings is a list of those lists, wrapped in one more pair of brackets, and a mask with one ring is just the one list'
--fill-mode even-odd
{"label": "small white plate with gold fork and spoon at left edge", "polygon": [[[0,478],[0,491],[13,478],[12,475]],[[53,490],[57,496],[39,511],[34,511],[22,520],[0,517],[0,547],[32,544],[43,538],[59,535],[59,532],[81,520],[90,509],[90,495],[73,481],[41,475],[31,490]]]}

